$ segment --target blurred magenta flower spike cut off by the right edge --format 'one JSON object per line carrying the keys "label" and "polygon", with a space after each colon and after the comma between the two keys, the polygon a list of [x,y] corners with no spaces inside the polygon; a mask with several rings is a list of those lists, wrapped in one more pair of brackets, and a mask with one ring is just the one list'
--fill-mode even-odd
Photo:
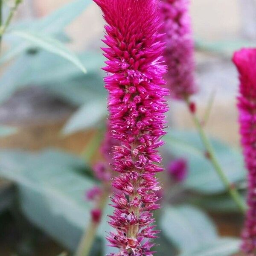
{"label": "blurred magenta flower spike cut off by the right edge", "polygon": [[239,71],[238,97],[241,144],[248,169],[247,216],[242,250],[256,255],[256,49],[241,49],[233,61]]}

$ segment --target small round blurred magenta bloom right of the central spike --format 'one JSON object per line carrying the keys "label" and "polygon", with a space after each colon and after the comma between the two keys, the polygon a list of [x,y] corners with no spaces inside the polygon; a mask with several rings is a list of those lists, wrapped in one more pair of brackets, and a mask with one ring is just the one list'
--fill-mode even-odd
{"label": "small round blurred magenta bloom right of the central spike", "polygon": [[167,172],[176,182],[182,182],[188,175],[188,166],[186,159],[179,158],[171,161],[167,166]]}

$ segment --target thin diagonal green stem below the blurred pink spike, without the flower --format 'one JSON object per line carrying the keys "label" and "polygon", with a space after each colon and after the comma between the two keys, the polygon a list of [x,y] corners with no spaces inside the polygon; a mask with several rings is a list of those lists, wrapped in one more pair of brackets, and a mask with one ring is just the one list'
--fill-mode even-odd
{"label": "thin diagonal green stem below the blurred pink spike, without the flower", "polygon": [[[186,104],[189,108],[190,102],[189,99],[186,99]],[[217,172],[218,176],[224,183],[224,186],[226,187],[227,191],[229,192],[230,196],[233,198],[234,202],[236,203],[237,207],[240,209],[242,213],[246,212],[246,205],[244,204],[244,200],[241,198],[241,195],[237,191],[236,187],[230,184],[226,174],[224,173],[220,163],[218,162],[218,159],[215,155],[215,151],[212,147],[212,144],[210,143],[207,135],[205,134],[205,131],[201,125],[201,122],[199,121],[198,117],[195,113],[192,113],[189,111],[192,115],[192,120],[195,124],[195,127],[198,130],[198,133],[201,137],[202,143],[204,144],[204,147],[206,148],[206,152],[208,154],[209,161],[211,161],[212,166],[214,167],[215,171]]]}

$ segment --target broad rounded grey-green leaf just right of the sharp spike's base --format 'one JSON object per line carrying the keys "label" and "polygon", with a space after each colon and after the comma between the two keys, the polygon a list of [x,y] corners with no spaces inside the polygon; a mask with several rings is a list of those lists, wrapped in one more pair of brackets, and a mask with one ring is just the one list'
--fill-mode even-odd
{"label": "broad rounded grey-green leaf just right of the sharp spike's base", "polygon": [[183,252],[218,238],[216,228],[207,215],[189,205],[164,207],[160,228],[166,238]]}

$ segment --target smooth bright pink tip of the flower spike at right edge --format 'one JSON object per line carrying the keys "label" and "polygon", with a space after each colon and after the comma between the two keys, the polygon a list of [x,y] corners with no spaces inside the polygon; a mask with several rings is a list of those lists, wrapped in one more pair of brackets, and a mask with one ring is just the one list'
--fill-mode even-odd
{"label": "smooth bright pink tip of the flower spike at right edge", "polygon": [[256,86],[256,48],[243,48],[235,52],[233,62],[239,73]]}

